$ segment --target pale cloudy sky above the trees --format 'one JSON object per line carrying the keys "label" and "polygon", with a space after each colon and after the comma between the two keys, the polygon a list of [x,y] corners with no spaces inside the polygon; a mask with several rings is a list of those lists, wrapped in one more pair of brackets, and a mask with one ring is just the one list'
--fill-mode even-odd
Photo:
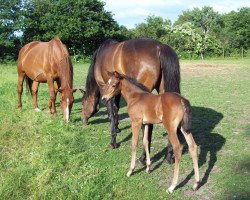
{"label": "pale cloudy sky above the trees", "polygon": [[241,7],[250,7],[250,0],[103,0],[105,10],[114,14],[119,25],[133,28],[144,22],[148,15],[170,19],[172,23],[182,11],[194,7],[211,6],[219,13],[227,13]]}

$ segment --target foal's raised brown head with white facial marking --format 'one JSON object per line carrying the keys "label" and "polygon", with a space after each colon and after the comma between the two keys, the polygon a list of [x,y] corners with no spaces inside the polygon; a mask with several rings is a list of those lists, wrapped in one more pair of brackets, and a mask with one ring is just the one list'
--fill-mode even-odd
{"label": "foal's raised brown head with white facial marking", "polygon": [[121,92],[121,80],[123,77],[118,72],[108,72],[109,80],[102,89],[102,100],[109,101]]}

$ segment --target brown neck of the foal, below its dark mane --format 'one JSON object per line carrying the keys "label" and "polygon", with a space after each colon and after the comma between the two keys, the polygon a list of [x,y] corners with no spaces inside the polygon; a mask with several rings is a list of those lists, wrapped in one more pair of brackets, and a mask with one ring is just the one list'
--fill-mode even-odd
{"label": "brown neck of the foal, below its dark mane", "polygon": [[139,94],[145,93],[138,86],[134,85],[127,79],[122,79],[121,81],[121,93],[127,104],[133,101]]}

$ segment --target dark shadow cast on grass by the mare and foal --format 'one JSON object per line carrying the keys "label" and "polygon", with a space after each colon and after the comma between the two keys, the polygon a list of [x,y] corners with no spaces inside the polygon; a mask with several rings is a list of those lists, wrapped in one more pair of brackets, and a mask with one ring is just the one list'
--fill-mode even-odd
{"label": "dark shadow cast on grass by the mare and foal", "polygon": [[[222,113],[219,113],[211,108],[204,107],[192,107],[193,120],[192,120],[192,133],[197,145],[200,147],[199,154],[199,167],[208,162],[208,168],[205,173],[201,176],[200,186],[207,183],[209,174],[211,173],[216,161],[217,152],[223,147],[226,139],[218,133],[213,133],[213,129],[223,118]],[[179,137],[180,139],[182,137]],[[181,139],[183,140],[183,139]],[[153,162],[158,162],[152,171],[158,169],[163,163],[163,157],[165,157],[167,148],[158,152],[152,157]],[[183,153],[188,152],[187,146],[184,147]],[[209,157],[208,157],[209,156]],[[208,160],[207,160],[208,157]],[[162,160],[161,160],[162,159]],[[191,159],[191,158],[190,158]],[[160,161],[161,160],[161,161]],[[194,176],[192,171],[178,186],[177,188],[183,187],[188,181]]]}

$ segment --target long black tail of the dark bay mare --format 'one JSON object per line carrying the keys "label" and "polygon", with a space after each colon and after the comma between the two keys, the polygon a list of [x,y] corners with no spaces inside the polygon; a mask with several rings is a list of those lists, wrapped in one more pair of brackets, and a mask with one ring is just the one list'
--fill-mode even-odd
{"label": "long black tail of the dark bay mare", "polygon": [[177,54],[171,47],[161,45],[160,61],[164,79],[164,90],[180,93],[180,63]]}

